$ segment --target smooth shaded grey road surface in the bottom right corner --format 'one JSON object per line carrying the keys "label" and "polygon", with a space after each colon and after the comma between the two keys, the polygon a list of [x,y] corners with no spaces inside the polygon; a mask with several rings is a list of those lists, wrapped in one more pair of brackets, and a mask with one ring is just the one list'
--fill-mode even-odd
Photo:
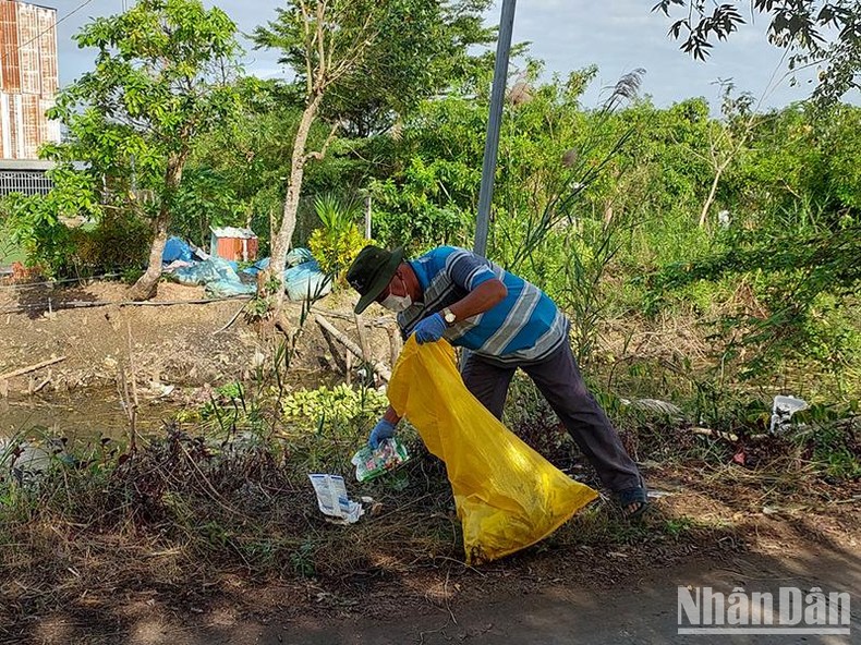
{"label": "smooth shaded grey road surface in the bottom right corner", "polygon": [[[405,644],[488,645],[604,643],[858,643],[861,607],[853,606],[849,636],[727,636],[677,634],[677,586],[711,586],[730,593],[742,586],[768,591],[780,586],[824,591],[861,588],[861,560],[856,556],[811,550],[791,558],[761,555],[728,561],[699,560],[671,569],[653,570],[609,589],[548,584],[536,594],[450,605],[435,616],[392,616],[391,620],[355,618],[326,623],[294,621],[287,625],[242,625],[228,634],[209,634],[195,643],[244,644]],[[853,603],[861,599],[856,595]],[[450,611],[449,611],[450,610]],[[245,631],[247,630],[247,631]],[[211,636],[215,636],[210,640]]]}

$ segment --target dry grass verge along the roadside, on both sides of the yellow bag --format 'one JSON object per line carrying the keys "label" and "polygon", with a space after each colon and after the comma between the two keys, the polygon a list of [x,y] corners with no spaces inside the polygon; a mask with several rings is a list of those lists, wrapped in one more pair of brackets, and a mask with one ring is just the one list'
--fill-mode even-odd
{"label": "dry grass verge along the roadside, on both sides of the yellow bag", "polygon": [[[638,562],[741,548],[745,534],[759,531],[747,522],[767,504],[798,506],[811,495],[822,503],[830,496],[836,504],[852,494],[851,486],[816,479],[797,454],[757,470],[689,462],[647,472],[650,479],[681,479],[684,492],[658,500],[644,523],[629,524],[614,504],[598,502],[539,545],[472,571],[461,564],[460,528],[441,462],[412,445],[413,460],[396,475],[350,485],[351,494],[380,503],[375,514],[337,526],[318,512],[307,468],[298,461],[316,440],[293,437],[240,450],[171,428],[129,458],[58,464],[37,487],[7,483],[0,612],[9,621],[0,623],[0,638],[32,635],[33,617],[60,608],[83,622],[111,617],[117,624],[123,611],[156,598],[186,611],[220,601],[247,612],[262,603],[258,589],[302,585],[310,600],[281,595],[274,601],[323,597],[352,607],[369,589],[388,585],[433,603],[428,594],[444,584],[440,576],[444,586],[452,575],[473,576],[476,589],[529,586],[535,567],[555,575],[561,553],[590,562],[578,575],[616,577]],[[521,570],[529,572],[522,580]]]}

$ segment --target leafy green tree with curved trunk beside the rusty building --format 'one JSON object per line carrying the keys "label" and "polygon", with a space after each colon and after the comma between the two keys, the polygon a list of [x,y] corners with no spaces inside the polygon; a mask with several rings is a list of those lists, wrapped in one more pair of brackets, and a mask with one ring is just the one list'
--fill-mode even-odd
{"label": "leafy green tree with curved trunk beside the rusty building", "polygon": [[74,39],[98,50],[95,69],[58,97],[50,115],[68,127],[70,141],[46,154],[83,161],[83,172],[104,178],[101,202],[151,219],[148,267],[132,288],[134,299],[146,300],[161,275],[195,142],[239,102],[235,25],[199,0],[141,0],[125,13],[94,20]]}

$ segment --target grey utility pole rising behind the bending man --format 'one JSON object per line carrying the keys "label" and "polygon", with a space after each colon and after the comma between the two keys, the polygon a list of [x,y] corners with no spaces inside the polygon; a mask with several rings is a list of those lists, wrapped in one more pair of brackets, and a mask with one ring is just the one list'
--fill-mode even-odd
{"label": "grey utility pole rising behind the bending man", "polygon": [[508,54],[511,50],[511,32],[514,26],[516,0],[502,0],[502,16],[499,19],[499,40],[496,42],[494,85],[490,92],[490,115],[487,120],[487,138],[484,143],[482,186],[478,192],[478,217],[475,222],[475,246],[478,255],[487,253],[487,230],[490,226],[490,203],[494,200],[494,175],[496,155],[499,150],[499,125],[502,121],[502,100],[508,77]]}

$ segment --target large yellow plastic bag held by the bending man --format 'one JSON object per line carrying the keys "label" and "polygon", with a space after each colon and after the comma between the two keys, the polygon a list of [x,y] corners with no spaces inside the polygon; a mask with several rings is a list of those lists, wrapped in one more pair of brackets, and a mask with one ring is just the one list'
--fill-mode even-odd
{"label": "large yellow plastic bag held by the bending man", "polygon": [[597,497],[506,428],[463,385],[446,341],[411,338],[388,389],[427,449],[446,462],[466,563],[495,560],[550,535]]}

